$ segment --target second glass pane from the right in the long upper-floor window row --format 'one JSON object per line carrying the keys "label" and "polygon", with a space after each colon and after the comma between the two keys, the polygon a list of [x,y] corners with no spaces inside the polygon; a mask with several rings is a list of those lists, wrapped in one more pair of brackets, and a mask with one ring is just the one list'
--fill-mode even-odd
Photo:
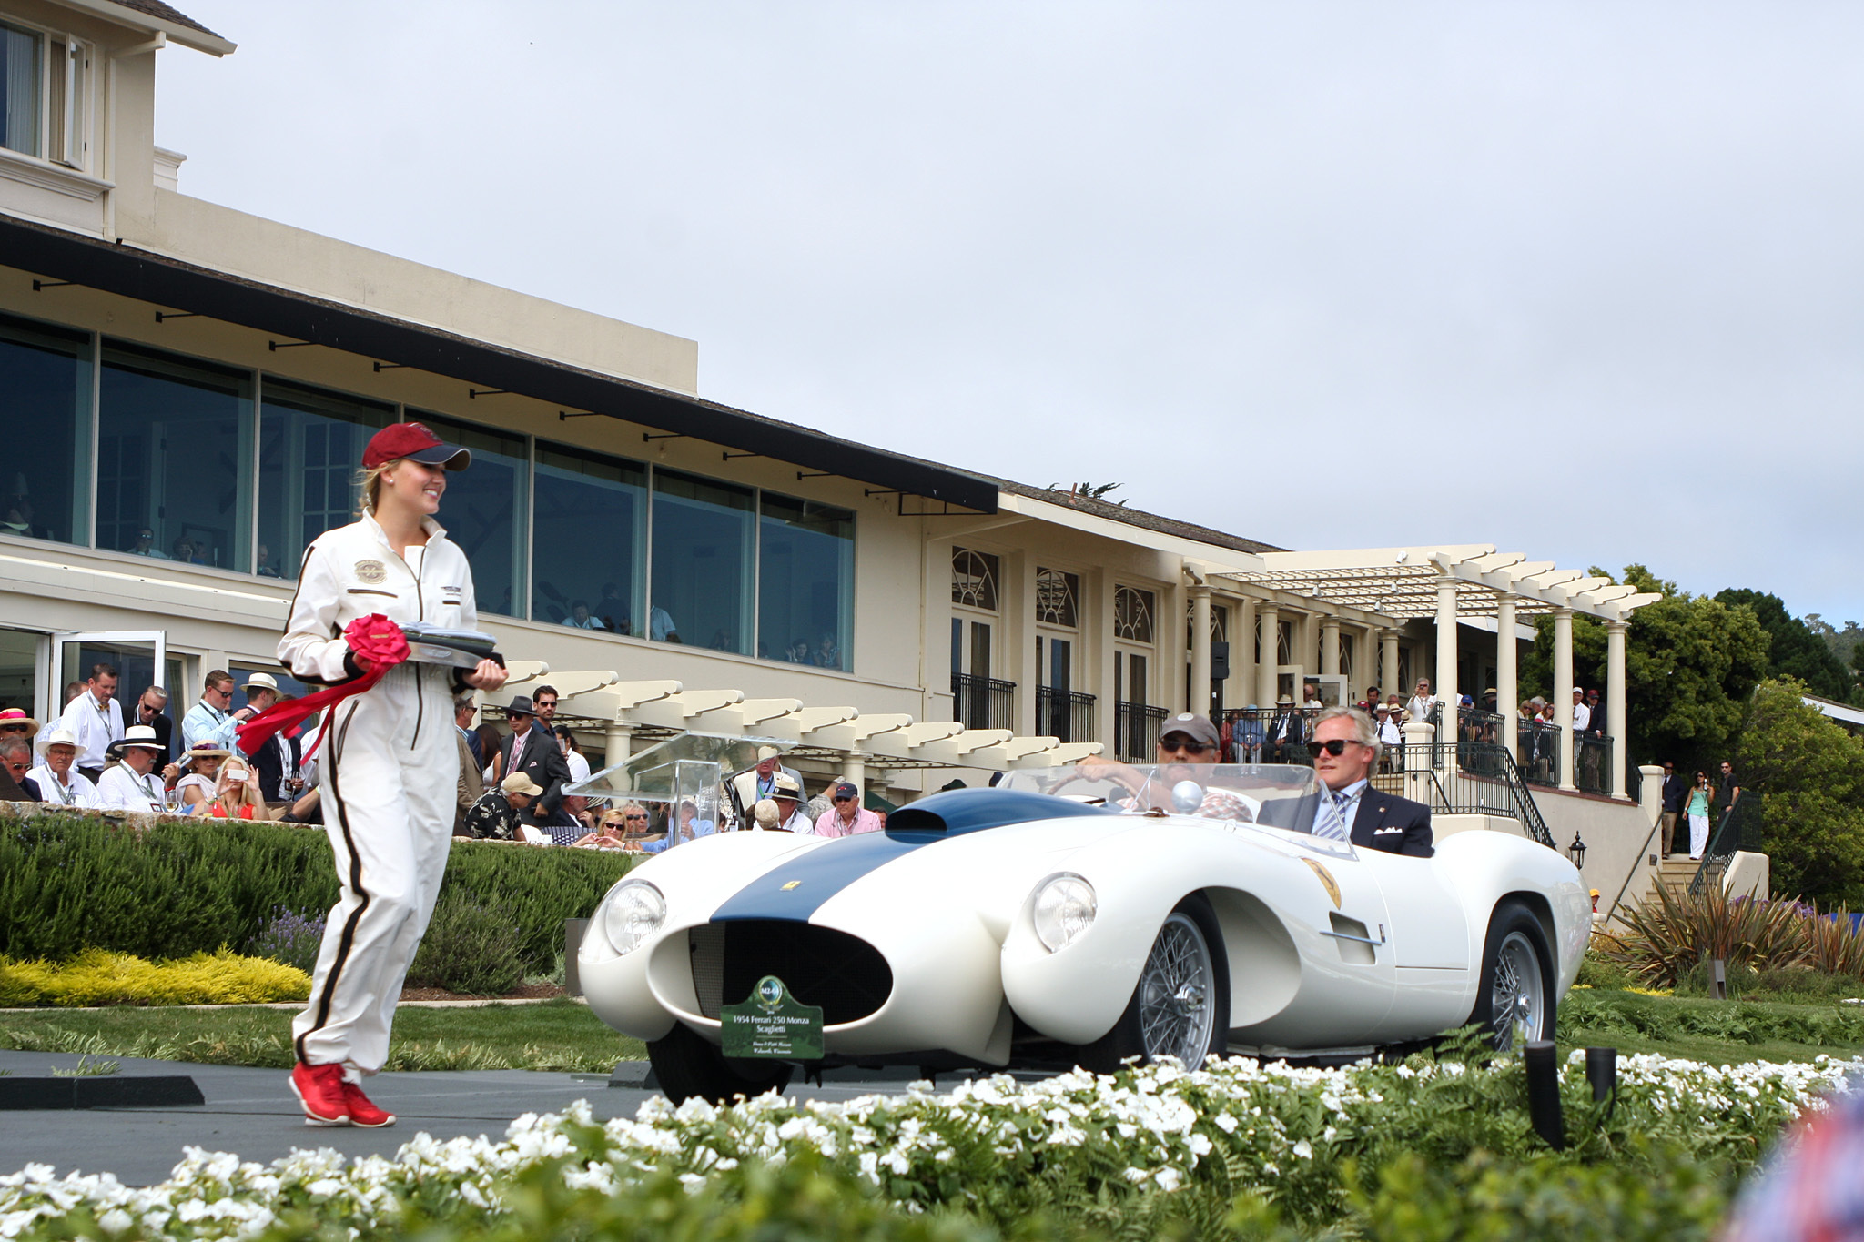
{"label": "second glass pane from the right in the long upper-floor window row", "polygon": [[751,490],[654,471],[654,590],[647,637],[749,654]]}

